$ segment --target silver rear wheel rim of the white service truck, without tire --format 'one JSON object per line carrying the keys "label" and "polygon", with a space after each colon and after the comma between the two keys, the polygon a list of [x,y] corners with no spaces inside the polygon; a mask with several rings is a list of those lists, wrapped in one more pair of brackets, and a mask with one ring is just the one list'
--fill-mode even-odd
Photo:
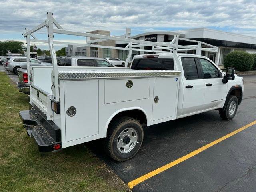
{"label": "silver rear wheel rim of the white service truck, without tire", "polygon": [[117,139],[116,145],[120,153],[130,152],[137,143],[138,133],[134,128],[127,128],[123,130]]}

